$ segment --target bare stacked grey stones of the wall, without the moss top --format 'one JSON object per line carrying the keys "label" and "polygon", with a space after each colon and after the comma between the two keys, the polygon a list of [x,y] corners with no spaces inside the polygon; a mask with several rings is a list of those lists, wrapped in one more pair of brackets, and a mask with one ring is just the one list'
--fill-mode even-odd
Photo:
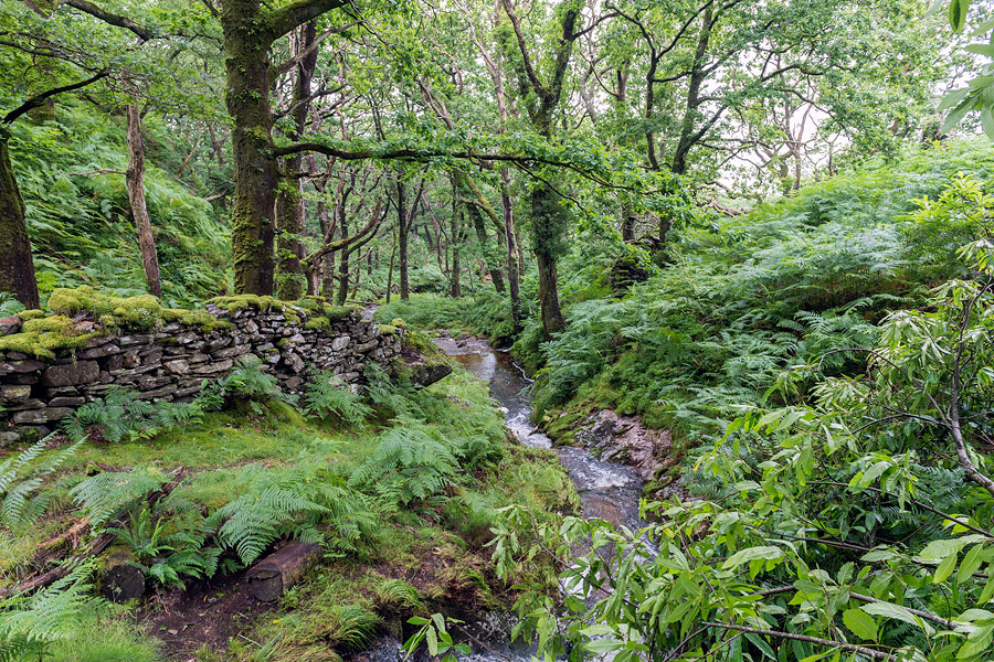
{"label": "bare stacked grey stones of the wall, without the moss top", "polygon": [[[77,348],[49,356],[0,350],[0,446],[46,435],[115,385],[145,398],[190,398],[204,380],[226,375],[252,354],[285,392],[299,393],[310,370],[355,384],[370,362],[387,367],[401,353],[403,330],[363,320],[358,310],[336,309],[332,317],[289,305],[226,310],[209,303],[207,311],[221,323],[160,322],[134,333],[76,316],[80,333],[96,333]],[[4,318],[0,335],[13,339],[21,325]]]}

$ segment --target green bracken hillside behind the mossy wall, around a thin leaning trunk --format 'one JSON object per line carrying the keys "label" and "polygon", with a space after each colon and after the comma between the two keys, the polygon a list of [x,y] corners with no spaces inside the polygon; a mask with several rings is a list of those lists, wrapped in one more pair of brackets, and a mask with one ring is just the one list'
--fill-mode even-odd
{"label": "green bracken hillside behind the mossy wall, around a thin leaning trunk", "polygon": [[[17,122],[11,129],[11,161],[42,300],[56,288],[80,285],[125,297],[146,293],[123,172],[128,163],[124,118],[66,97],[56,121]],[[230,166],[213,168],[207,178],[186,169],[178,178],[189,153],[186,137],[152,114],[142,121],[142,135],[145,193],[165,301],[189,307],[224,293],[231,280],[228,213],[204,197],[230,189]]]}

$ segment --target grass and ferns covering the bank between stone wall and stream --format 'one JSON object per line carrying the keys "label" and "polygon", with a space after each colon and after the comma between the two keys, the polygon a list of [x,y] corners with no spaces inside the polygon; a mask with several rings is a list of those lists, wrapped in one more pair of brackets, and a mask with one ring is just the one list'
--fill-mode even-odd
{"label": "grass and ferns covering the bank between stone wall and stream", "polygon": [[[486,546],[498,510],[578,506],[556,456],[511,441],[486,387],[463,371],[421,391],[372,371],[358,394],[315,374],[307,397],[292,402],[253,370],[240,366],[191,405],[110,394],[65,424],[66,441],[85,437],[77,445],[0,456],[0,478],[4,461],[21,463],[0,510],[15,492],[29,500],[0,523],[0,586],[39,572],[39,543],[83,516],[99,530],[127,515],[108,553],[142,568],[152,592],[235,572],[278,540],[319,542],[320,562],[275,612],[199,659],[331,660],[412,615],[506,608],[514,590],[496,579]],[[147,505],[177,471],[168,499]],[[19,482],[32,474],[41,484]],[[553,568],[538,572],[552,590]],[[44,659],[160,659],[155,610],[131,626],[140,637],[123,634],[138,607],[70,619]],[[18,609],[0,601],[0,631]],[[78,644],[84,631],[101,636]]]}

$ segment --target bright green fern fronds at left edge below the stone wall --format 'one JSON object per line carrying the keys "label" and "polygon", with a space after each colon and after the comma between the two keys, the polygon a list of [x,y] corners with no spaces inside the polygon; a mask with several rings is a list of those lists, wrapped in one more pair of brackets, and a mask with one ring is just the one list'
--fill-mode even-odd
{"label": "bright green fern fronds at left edge below the stone wall", "polygon": [[38,519],[51,502],[51,491],[43,490],[44,479],[80,447],[73,444],[32,467],[47,449],[52,435],[0,463],[0,524],[12,526]]}

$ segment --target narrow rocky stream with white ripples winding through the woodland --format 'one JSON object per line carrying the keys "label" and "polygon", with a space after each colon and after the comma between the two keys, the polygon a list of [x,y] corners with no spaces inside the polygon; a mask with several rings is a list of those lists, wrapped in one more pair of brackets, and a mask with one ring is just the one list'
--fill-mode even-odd
{"label": "narrow rocky stream with white ripples winding through the woodland", "polygon": [[[521,444],[550,448],[559,456],[580,495],[584,517],[601,519],[633,530],[639,526],[642,480],[636,472],[624,465],[599,460],[582,448],[553,447],[552,440],[531,425],[532,380],[508,352],[493,349],[485,340],[454,339],[448,334],[436,338],[435,344],[489,385],[490,395],[504,408],[505,425]],[[514,615],[499,612],[480,613],[472,619],[465,628],[475,640],[467,641],[473,654],[459,655],[459,659],[463,662],[507,662],[508,659],[527,662],[533,650],[526,644],[509,643],[515,622]],[[363,658],[368,656],[370,662],[400,662],[404,655],[398,640],[384,637]]]}

